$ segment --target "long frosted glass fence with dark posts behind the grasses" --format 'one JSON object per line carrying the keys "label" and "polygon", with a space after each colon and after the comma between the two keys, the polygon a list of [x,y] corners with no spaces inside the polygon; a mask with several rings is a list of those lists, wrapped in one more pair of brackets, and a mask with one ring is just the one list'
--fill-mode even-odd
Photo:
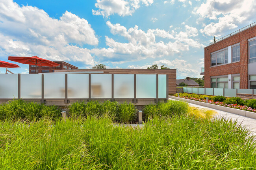
{"label": "long frosted glass fence with dark posts behind the grasses", "polygon": [[0,100],[168,100],[165,74],[0,74],[0,80]]}

